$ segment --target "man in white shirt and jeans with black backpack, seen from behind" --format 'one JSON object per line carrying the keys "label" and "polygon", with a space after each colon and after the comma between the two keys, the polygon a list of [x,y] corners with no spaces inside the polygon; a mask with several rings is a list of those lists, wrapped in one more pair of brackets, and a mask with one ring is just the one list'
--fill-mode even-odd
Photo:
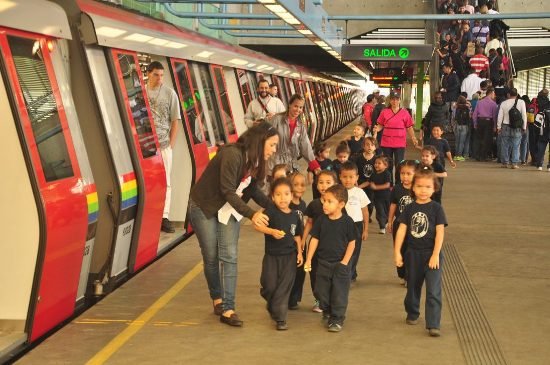
{"label": "man in white shirt and jeans with black backpack, seen from behind", "polygon": [[513,169],[519,168],[519,145],[521,134],[527,128],[527,110],[525,102],[518,98],[515,88],[508,92],[508,99],[500,104],[497,117],[497,133],[500,134],[501,148],[500,161],[502,167],[509,165]]}

